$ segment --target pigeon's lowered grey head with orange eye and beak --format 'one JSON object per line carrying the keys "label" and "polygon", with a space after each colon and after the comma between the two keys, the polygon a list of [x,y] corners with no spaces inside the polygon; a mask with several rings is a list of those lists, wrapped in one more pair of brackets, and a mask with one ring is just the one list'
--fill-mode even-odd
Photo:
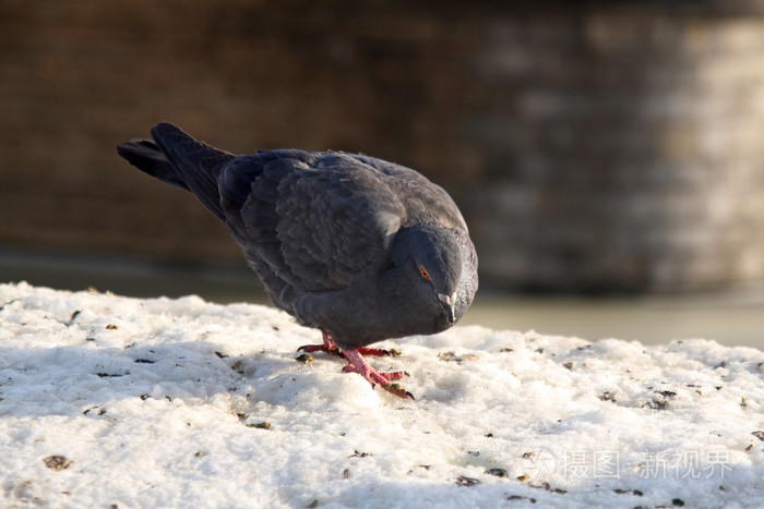
{"label": "pigeon's lowered grey head with orange eye and beak", "polygon": [[[462,280],[462,249],[453,232],[427,225],[401,230],[392,262],[406,313],[444,330],[458,318],[456,292]],[[403,290],[403,291],[402,291]]]}

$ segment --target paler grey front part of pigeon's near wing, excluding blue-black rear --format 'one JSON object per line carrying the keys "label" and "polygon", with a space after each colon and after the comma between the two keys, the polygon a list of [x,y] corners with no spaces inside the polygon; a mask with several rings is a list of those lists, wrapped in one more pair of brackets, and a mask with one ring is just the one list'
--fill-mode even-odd
{"label": "paler grey front part of pigeon's near wing, excluding blue-black rear", "polygon": [[329,153],[279,185],[278,238],[286,263],[309,290],[346,286],[379,263],[404,216],[378,172]]}

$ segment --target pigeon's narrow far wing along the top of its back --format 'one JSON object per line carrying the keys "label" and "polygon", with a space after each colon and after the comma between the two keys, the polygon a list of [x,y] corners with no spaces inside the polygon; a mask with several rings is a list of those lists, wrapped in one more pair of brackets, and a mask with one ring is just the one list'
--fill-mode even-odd
{"label": "pigeon's narrow far wing along the top of its back", "polygon": [[449,193],[421,173],[374,157],[362,155],[351,157],[386,175],[394,177],[390,180],[391,186],[404,199],[407,206],[406,216],[411,220],[433,217],[446,228],[461,228],[465,232],[468,231],[462,213]]}

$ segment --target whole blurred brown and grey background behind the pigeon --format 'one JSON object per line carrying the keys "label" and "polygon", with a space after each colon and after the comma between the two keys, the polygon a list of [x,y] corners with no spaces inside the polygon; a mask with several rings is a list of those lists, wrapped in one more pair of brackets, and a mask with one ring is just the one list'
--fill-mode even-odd
{"label": "whole blurred brown and grey background behind the pigeon", "polygon": [[764,347],[763,1],[0,0],[0,281],[265,302],[160,120],[442,184],[464,323]]}

